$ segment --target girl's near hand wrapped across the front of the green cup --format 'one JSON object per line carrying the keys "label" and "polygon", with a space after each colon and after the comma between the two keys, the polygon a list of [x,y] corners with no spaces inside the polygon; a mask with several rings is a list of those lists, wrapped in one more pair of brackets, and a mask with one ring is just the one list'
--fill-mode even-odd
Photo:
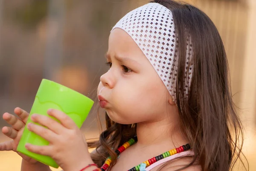
{"label": "girl's near hand wrapped across the front of the green cup", "polygon": [[[30,123],[28,129],[49,141],[47,146],[26,144],[26,149],[37,154],[52,157],[65,171],[75,171],[93,163],[84,135],[75,122],[59,110],[48,110],[50,116],[33,114],[31,119],[42,125]],[[47,128],[45,128],[45,127]]]}

